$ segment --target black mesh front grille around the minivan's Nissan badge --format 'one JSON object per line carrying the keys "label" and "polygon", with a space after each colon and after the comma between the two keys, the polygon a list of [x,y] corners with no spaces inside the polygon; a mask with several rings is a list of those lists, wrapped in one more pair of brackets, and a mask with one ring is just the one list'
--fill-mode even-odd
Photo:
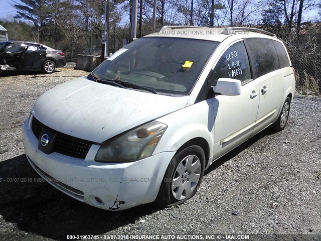
{"label": "black mesh front grille around the minivan's Nissan badge", "polygon": [[36,138],[39,140],[41,129],[45,127],[52,130],[57,134],[57,138],[54,143],[54,152],[70,156],[85,159],[86,155],[92,146],[93,142],[75,138],[60,132],[57,132],[38,121],[35,116],[32,119],[31,130]]}

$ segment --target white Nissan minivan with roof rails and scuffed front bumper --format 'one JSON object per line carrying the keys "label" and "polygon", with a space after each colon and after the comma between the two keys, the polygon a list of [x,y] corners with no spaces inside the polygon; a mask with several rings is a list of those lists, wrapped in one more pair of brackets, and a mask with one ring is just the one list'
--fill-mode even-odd
{"label": "white Nissan minivan with roof rails and scuffed front bumper", "polygon": [[177,205],[219,157],[268,126],[282,130],[294,89],[284,44],[268,32],[164,27],[41,95],[25,152],[89,205]]}

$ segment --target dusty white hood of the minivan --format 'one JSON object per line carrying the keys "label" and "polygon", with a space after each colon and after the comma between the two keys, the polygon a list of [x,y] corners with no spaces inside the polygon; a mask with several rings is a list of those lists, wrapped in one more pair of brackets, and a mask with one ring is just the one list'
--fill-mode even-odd
{"label": "dusty white hood of the minivan", "polygon": [[41,95],[33,107],[44,125],[101,143],[152,119],[184,108],[189,96],[173,97],[90,81],[84,77]]}

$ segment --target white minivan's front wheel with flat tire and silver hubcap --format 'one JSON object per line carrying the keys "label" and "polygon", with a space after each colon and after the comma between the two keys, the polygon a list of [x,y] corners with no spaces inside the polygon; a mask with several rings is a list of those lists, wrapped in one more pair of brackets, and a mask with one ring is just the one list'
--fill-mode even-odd
{"label": "white minivan's front wheel with flat tire and silver hubcap", "polygon": [[204,169],[205,154],[201,147],[190,146],[178,152],[166,170],[155,202],[161,207],[171,207],[193,197],[202,182]]}

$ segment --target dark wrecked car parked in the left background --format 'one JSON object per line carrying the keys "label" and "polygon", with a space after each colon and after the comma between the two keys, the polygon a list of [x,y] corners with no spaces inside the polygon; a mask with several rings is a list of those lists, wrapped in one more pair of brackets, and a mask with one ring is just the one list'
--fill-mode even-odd
{"label": "dark wrecked car parked in the left background", "polygon": [[55,72],[56,67],[66,65],[62,50],[26,41],[0,42],[0,72],[5,70],[41,70],[45,74]]}

